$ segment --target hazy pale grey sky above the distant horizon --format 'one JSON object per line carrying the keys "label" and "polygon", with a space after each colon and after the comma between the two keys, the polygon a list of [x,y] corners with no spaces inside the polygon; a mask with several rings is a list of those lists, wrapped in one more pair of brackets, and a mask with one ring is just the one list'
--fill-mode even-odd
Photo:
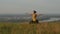
{"label": "hazy pale grey sky above the distant horizon", "polygon": [[59,14],[60,0],[0,0],[0,14],[31,13]]}

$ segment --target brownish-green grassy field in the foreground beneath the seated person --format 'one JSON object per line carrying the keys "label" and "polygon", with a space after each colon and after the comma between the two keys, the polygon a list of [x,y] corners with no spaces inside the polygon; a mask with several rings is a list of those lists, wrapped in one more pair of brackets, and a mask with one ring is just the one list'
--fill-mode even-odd
{"label": "brownish-green grassy field in the foreground beneath the seated person", "polygon": [[0,22],[0,34],[60,34],[60,22],[39,24]]}

